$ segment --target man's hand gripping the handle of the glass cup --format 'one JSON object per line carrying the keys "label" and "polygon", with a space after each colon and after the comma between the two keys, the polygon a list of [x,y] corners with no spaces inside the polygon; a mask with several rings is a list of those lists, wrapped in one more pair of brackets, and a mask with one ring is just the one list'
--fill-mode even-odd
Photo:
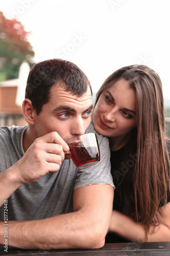
{"label": "man's hand gripping the handle of the glass cup", "polygon": [[57,132],[37,138],[13,167],[21,183],[33,182],[47,173],[59,170],[64,151],[69,147]]}

